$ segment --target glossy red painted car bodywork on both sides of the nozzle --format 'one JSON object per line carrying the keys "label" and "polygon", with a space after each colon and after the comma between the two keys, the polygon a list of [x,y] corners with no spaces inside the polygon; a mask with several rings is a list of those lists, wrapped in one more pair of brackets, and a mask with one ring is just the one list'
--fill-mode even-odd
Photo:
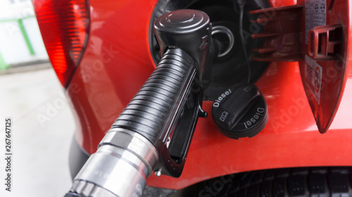
{"label": "glossy red painted car bodywork on both sides of the nozzle", "polygon": [[[271,1],[275,6],[294,4],[278,2]],[[79,117],[76,138],[90,154],[153,71],[147,34],[155,3],[90,1],[88,46],[68,88]],[[352,165],[351,70],[340,109],[324,135],[315,125],[297,62],[272,62],[256,85],[269,112],[268,124],[260,134],[231,140],[217,130],[208,113],[208,118],[199,119],[181,177],[152,175],[148,184],[181,189],[204,179],[246,170]],[[211,104],[204,102],[203,108],[210,112]]]}

